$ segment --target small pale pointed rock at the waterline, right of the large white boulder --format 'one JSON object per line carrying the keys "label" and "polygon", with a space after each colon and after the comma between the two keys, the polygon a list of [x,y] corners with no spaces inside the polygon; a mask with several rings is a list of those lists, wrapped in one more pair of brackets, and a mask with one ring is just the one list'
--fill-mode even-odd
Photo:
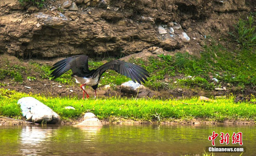
{"label": "small pale pointed rock at the waterline, right of the large white boulder", "polygon": [[94,127],[101,127],[102,123],[99,119],[96,118],[96,116],[93,113],[85,113],[84,115],[84,121],[82,123],[78,123],[74,126],[80,127],[80,126],[94,126]]}

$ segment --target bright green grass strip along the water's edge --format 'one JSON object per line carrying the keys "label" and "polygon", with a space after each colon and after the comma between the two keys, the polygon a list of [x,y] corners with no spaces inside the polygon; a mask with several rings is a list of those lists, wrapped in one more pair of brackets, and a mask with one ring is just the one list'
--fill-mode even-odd
{"label": "bright green grass strip along the water's edge", "polygon": [[[62,118],[68,119],[81,116],[84,112],[92,112],[100,119],[109,117],[121,117],[133,120],[151,121],[158,118],[161,121],[193,118],[205,120],[223,121],[224,119],[255,120],[256,105],[248,102],[234,103],[231,95],[228,99],[217,99],[216,102],[198,101],[196,97],[191,99],[135,99],[111,97],[106,99],[82,100],[74,98],[45,97],[42,95],[19,93],[0,89],[0,115],[20,116],[21,110],[17,100],[32,96],[43,102]],[[255,98],[252,97],[252,101]],[[188,103],[182,104],[181,102]],[[76,110],[66,110],[66,106],[72,106]]]}

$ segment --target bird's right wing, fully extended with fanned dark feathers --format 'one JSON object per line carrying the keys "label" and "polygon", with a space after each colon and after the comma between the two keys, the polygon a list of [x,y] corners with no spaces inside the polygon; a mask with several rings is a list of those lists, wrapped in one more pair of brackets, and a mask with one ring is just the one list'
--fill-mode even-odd
{"label": "bird's right wing, fully extended with fanned dark feathers", "polygon": [[147,77],[149,77],[148,71],[138,65],[120,60],[114,60],[105,63],[101,65],[98,69],[96,69],[95,73],[93,74],[93,78],[103,74],[108,69],[115,70],[119,74],[131,78],[134,83],[137,81],[139,84],[141,84],[140,81],[143,83],[145,83],[144,80],[148,81]]}

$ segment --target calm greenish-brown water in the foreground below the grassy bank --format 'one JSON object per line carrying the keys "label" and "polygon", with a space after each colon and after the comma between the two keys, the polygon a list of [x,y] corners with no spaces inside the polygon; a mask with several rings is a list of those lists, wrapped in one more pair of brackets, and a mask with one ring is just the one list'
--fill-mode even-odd
{"label": "calm greenish-brown water in the foreground below the grassy bank", "polygon": [[[212,131],[243,132],[243,155],[255,155],[256,126],[123,126],[102,128],[72,126],[1,126],[0,155],[76,156],[180,156],[204,153]],[[231,141],[230,136],[230,141]],[[215,140],[220,145],[219,138]],[[230,143],[231,144],[231,143]],[[229,145],[234,146],[234,145]],[[241,147],[240,145],[236,145]],[[236,156],[240,153],[215,153]]]}

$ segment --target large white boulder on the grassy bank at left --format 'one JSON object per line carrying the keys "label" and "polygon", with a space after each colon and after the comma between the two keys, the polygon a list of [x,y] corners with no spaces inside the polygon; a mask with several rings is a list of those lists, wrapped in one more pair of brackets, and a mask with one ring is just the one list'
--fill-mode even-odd
{"label": "large white boulder on the grassy bank at left", "polygon": [[41,122],[44,120],[50,123],[60,121],[60,116],[57,113],[33,97],[21,98],[17,103],[20,104],[22,115],[28,121]]}

